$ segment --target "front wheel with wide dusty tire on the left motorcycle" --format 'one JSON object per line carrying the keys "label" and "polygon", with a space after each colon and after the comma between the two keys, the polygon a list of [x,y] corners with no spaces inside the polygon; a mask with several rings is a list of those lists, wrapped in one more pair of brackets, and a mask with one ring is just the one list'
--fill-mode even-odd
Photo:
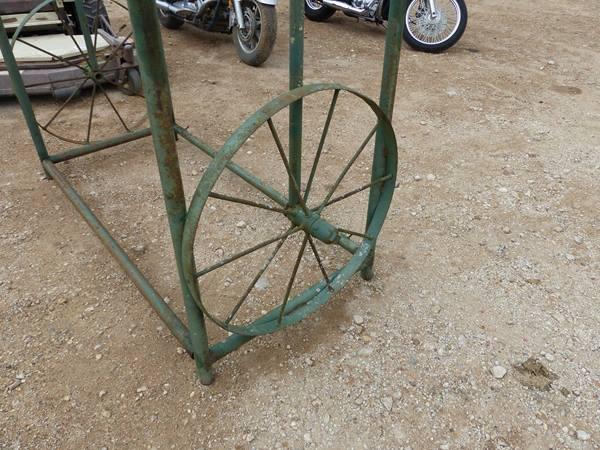
{"label": "front wheel with wide dusty tire on the left motorcycle", "polygon": [[[233,29],[233,43],[242,62],[249,66],[260,66],[273,51],[277,37],[277,14],[275,7],[256,0],[243,0],[242,11],[246,27]],[[256,18],[260,19],[260,30],[256,28]],[[255,42],[256,41],[256,42]]]}

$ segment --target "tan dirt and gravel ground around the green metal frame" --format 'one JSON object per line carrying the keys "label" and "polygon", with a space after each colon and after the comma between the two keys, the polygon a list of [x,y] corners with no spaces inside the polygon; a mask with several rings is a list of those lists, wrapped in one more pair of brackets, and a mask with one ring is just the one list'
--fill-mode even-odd
{"label": "tan dirt and gravel ground around the green metal frame", "polygon": [[[285,91],[287,11],[262,68],[239,63],[229,36],[164,32],[180,123],[219,148]],[[469,12],[447,53],[403,49],[397,188],[375,279],[219,361],[210,387],[44,179],[18,105],[3,100],[0,448],[600,448],[597,11],[581,0],[478,0]],[[307,23],[307,82],[376,97],[383,38],[340,14]],[[141,114],[139,101],[111,95],[128,118]],[[319,127],[327,105],[307,106]],[[368,130],[356,111],[342,109],[327,173],[347,154],[344,139],[356,145]],[[269,173],[264,139],[240,158]],[[127,148],[65,173],[181,311],[151,145]],[[207,159],[186,144],[180,158],[189,196]],[[360,167],[348,187],[368,173]],[[217,256],[266,223],[220,208],[202,247]],[[211,298],[229,298],[236,274],[222,282]]]}

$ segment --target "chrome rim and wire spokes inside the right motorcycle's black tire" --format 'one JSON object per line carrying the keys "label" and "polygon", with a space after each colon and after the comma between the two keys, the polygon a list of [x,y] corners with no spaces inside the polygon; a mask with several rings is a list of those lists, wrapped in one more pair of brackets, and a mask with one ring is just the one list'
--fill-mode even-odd
{"label": "chrome rim and wire spokes inside the right motorcycle's black tire", "polygon": [[458,30],[462,13],[457,1],[437,0],[437,7],[433,16],[426,0],[413,0],[406,11],[406,29],[421,44],[442,44]]}

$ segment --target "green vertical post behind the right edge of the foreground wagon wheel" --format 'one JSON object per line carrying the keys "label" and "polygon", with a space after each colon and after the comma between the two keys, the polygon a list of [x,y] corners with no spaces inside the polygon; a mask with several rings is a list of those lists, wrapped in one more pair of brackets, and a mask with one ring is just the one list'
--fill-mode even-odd
{"label": "green vertical post behind the right edge of the foreground wagon wheel", "polygon": [[[390,121],[394,114],[394,101],[396,99],[396,84],[398,81],[398,66],[400,64],[400,47],[402,46],[402,32],[404,30],[404,15],[406,14],[407,0],[389,0],[387,33],[385,37],[385,53],[383,57],[383,75],[381,77],[381,91],[379,107],[388,116]],[[376,180],[385,175],[385,151],[383,136],[378,131],[375,138],[375,152],[373,155],[373,171],[371,180]],[[373,218],[381,195],[382,184],[374,185],[369,192],[369,207],[367,212],[367,229]],[[375,246],[373,246],[375,249]],[[375,250],[371,253],[367,264],[361,270],[365,280],[373,278],[373,261]]]}

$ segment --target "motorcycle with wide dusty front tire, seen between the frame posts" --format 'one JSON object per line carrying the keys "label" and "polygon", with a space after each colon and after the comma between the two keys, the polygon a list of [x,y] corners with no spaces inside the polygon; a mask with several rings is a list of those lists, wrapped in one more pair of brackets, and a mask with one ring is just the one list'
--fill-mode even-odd
{"label": "motorcycle with wide dusty front tire, seen between the frame posts", "polygon": [[277,0],[155,0],[160,23],[172,30],[189,23],[205,31],[233,35],[239,58],[260,66],[277,36]]}

